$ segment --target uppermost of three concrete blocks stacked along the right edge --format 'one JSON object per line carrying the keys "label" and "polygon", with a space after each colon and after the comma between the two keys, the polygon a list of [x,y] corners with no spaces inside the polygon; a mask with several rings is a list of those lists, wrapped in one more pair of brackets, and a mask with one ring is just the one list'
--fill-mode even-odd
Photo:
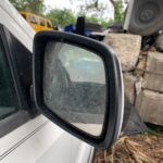
{"label": "uppermost of three concrete blocks stacked along the right edge", "polygon": [[163,53],[149,52],[147,61],[147,72],[163,75]]}

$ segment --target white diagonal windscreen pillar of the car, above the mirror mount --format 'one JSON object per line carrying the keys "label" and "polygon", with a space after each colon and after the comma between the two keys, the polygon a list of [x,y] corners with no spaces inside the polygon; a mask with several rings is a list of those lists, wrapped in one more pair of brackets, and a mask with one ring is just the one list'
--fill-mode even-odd
{"label": "white diagonal windscreen pillar of the car, above the mirror mount", "polygon": [[8,0],[0,0],[0,23],[3,24],[29,51],[33,51],[35,32]]}

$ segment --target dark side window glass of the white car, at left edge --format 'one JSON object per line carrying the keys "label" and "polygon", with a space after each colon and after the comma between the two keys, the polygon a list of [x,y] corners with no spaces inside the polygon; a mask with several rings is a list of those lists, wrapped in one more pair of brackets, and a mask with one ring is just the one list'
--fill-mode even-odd
{"label": "dark side window glass of the white car, at left edge", "polygon": [[14,82],[0,38],[0,121],[18,110]]}

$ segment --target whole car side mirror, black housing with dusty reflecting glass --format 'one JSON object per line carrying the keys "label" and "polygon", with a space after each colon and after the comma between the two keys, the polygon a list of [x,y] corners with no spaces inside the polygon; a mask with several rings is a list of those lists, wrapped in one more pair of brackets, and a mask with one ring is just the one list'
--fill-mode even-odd
{"label": "whole car side mirror, black housing with dusty reflecting glass", "polygon": [[75,34],[40,32],[34,40],[37,108],[75,137],[106,149],[123,121],[123,82],[114,52]]}

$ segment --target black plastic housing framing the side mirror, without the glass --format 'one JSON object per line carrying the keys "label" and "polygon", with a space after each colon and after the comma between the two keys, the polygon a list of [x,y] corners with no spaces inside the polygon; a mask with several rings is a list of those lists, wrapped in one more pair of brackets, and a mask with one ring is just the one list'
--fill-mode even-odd
{"label": "black plastic housing framing the side mirror, without the glass", "polygon": [[[79,47],[96,53],[104,65],[105,75],[105,112],[100,135],[93,136],[66,122],[53,112],[43,99],[43,72],[46,48],[49,42],[60,42]],[[54,76],[54,74],[53,74]],[[102,42],[62,32],[39,32],[34,39],[33,79],[35,103],[41,113],[53,123],[71,133],[75,137],[100,149],[106,149],[117,139],[124,113],[124,89],[122,71],[116,54]],[[89,87],[88,87],[89,89]],[[98,96],[98,95],[97,95]],[[76,105],[77,106],[77,105]]]}

